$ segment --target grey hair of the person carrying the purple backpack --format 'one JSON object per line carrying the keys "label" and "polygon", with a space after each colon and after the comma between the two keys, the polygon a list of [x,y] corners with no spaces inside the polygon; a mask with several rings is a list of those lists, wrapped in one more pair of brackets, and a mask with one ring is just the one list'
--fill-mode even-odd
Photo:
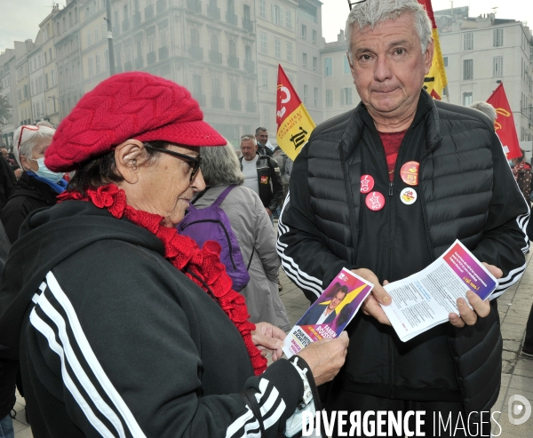
{"label": "grey hair of the person carrying the purple backpack", "polygon": [[230,144],[220,147],[200,147],[203,180],[207,186],[242,185],[244,174],[241,164]]}

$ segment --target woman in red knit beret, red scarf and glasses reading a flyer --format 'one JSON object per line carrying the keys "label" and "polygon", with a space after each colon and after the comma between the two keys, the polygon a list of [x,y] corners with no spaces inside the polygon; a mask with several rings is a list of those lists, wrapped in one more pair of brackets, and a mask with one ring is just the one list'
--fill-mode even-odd
{"label": "woman in red knit beret, red scarf and glasses reading a flyer", "polygon": [[199,147],[226,144],[202,118],[134,72],[60,123],[45,162],[76,174],[24,223],[0,290],[0,359],[20,354],[34,437],[274,437],[344,362],[346,334],[267,369],[257,345],[277,359],[281,330],[247,321],[218,245],[177,233],[205,188]]}

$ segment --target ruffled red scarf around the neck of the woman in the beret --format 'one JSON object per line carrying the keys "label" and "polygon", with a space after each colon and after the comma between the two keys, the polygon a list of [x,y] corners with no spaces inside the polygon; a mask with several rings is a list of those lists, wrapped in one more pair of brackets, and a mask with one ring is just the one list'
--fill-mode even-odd
{"label": "ruffled red scarf around the neck of the woman in the beret", "polygon": [[163,227],[161,225],[163,216],[135,210],[128,205],[125,192],[115,184],[108,184],[96,190],[89,189],[85,196],[77,191],[65,191],[58,196],[58,200],[91,202],[100,209],[107,209],[116,219],[125,216],[135,225],[146,228],[156,235],[163,242],[165,259],[203,291],[210,293],[235,324],[250,354],[255,375],[259,376],[267,369],[267,359],[261,355],[259,348],[251,340],[251,330],[255,330],[255,325],[248,321],[250,315],[244,297],[232,289],[232,281],[226,274],[226,267],[220,263],[219,243],[206,242],[200,250],[193,239],[179,235],[175,227]]}

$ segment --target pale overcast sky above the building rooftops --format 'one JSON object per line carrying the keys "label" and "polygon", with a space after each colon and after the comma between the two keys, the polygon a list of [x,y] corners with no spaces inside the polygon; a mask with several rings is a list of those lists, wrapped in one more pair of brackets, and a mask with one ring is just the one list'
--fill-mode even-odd
{"label": "pale overcast sky above the building rooftops", "polygon": [[[57,2],[56,2],[57,3]],[[64,0],[59,3],[65,4]],[[348,13],[347,0],[322,0],[322,33],[326,41],[335,41],[344,28]],[[449,0],[433,0],[434,11],[449,9]],[[470,16],[492,12],[497,18],[528,21],[533,28],[532,0],[455,0],[454,7],[470,5]],[[52,0],[0,0],[0,52],[12,47],[13,41],[35,41],[39,23],[52,11]]]}

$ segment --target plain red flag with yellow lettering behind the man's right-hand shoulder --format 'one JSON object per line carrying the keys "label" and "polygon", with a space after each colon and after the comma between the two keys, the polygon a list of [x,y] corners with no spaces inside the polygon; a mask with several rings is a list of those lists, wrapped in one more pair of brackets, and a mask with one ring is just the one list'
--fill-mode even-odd
{"label": "plain red flag with yellow lettering behind the man's right-hand shoulder", "polygon": [[497,89],[490,95],[487,103],[496,109],[497,118],[494,123],[494,129],[504,147],[507,159],[518,158],[521,156],[520,143],[516,135],[514,126],[513,111],[509,106],[509,100],[505,95],[504,84],[499,84]]}

